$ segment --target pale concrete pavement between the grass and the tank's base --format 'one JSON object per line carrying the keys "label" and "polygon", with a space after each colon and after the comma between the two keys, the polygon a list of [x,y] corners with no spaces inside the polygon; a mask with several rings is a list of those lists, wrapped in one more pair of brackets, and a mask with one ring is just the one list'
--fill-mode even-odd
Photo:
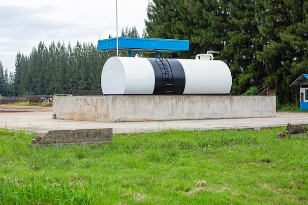
{"label": "pale concrete pavement between the grass and the tank's base", "polygon": [[150,132],[168,129],[236,129],[286,126],[308,122],[308,113],[276,113],[276,117],[168,120],[139,122],[92,122],[53,119],[52,110],[37,112],[2,112],[0,128],[46,133],[49,130],[113,128],[113,133]]}

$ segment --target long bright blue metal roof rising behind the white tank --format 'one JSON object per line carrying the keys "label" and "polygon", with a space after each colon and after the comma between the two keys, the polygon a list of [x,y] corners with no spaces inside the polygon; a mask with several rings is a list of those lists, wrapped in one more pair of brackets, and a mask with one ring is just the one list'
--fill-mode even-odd
{"label": "long bright blue metal roof rising behind the white tank", "polygon": [[[138,52],[178,52],[189,51],[189,40],[160,39],[160,38],[129,38],[119,37],[119,50]],[[97,50],[117,49],[117,38],[98,40]]]}

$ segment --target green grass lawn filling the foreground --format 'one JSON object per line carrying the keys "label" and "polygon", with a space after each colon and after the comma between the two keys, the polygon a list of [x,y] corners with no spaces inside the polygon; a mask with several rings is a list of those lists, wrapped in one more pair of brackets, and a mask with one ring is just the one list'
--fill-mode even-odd
{"label": "green grass lawn filling the foreground", "polygon": [[0,130],[0,205],[306,205],[308,139],[284,127],[114,135],[30,147]]}

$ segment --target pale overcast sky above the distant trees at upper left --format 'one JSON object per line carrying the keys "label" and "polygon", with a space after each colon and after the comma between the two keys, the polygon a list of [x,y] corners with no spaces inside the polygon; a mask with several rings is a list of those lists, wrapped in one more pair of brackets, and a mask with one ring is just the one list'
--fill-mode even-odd
{"label": "pale overcast sky above the distant trees at upper left", "polygon": [[[136,26],[140,37],[149,0],[118,0],[118,32]],[[0,61],[15,71],[18,52],[29,56],[40,41],[97,45],[99,39],[116,37],[116,0],[0,0]]]}

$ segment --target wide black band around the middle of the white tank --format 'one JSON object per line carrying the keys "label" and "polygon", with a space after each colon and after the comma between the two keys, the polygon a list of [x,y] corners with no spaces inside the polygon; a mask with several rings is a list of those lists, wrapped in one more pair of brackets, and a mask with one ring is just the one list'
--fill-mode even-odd
{"label": "wide black band around the middle of the white tank", "polygon": [[[185,72],[182,64],[177,59],[160,58],[164,64],[164,66],[162,66],[159,59],[147,59],[151,62],[155,75],[153,94],[182,95],[185,88]],[[172,78],[170,76],[172,76]]]}

